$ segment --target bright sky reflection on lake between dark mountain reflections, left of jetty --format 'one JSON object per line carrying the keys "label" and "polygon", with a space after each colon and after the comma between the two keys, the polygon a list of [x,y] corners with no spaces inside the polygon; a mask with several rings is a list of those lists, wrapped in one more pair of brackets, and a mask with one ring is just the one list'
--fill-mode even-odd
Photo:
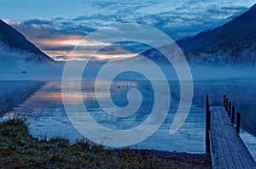
{"label": "bright sky reflection on lake between dark mountain reflections, left of jetty", "polygon": [[[145,121],[150,113],[151,109],[152,88],[145,82],[116,82],[113,83],[113,88],[117,88],[117,92],[113,92],[113,99],[115,103],[122,106],[121,102],[125,102],[126,98],[119,97],[119,94],[124,95],[127,92],[128,87],[137,87],[142,93],[144,93],[144,100],[142,108],[137,110],[137,113],[129,116],[128,118],[113,118],[111,115],[107,115],[102,112],[98,105],[95,105],[94,90],[91,88],[93,85],[91,82],[83,82],[84,103],[90,110],[90,115],[94,119],[101,123],[103,126],[111,127],[114,129],[119,128],[132,128]],[[71,86],[76,85],[75,82],[71,82]],[[161,85],[161,84],[160,84]],[[122,90],[124,87],[124,90]],[[161,92],[163,98],[165,97],[165,91]],[[104,95],[104,93],[102,93]],[[76,94],[68,93],[69,99],[76,99]],[[120,99],[120,100],[118,100]],[[126,100],[127,101],[127,100]],[[123,104],[124,105],[124,104]],[[204,110],[196,105],[192,106],[189,113],[189,118],[185,121],[183,127],[174,135],[169,134],[169,129],[172,124],[173,117],[177,111],[178,98],[175,93],[172,94],[172,104],[169,114],[166,117],[166,121],[160,127],[160,129],[154,133],[154,135],[143,143],[134,145],[137,148],[147,149],[163,149],[163,150],[177,150],[177,151],[189,151],[189,152],[204,152],[204,137],[205,137],[205,116]],[[75,130],[67,118],[67,114],[64,110],[64,106],[61,100],[61,82],[47,82],[44,87],[41,87],[30,98],[26,99],[26,102],[20,104],[15,109],[16,112],[23,112],[28,118],[30,124],[30,130],[35,137],[48,138],[52,136],[64,136],[72,141],[75,141],[82,136]],[[74,104],[73,111],[76,113],[81,112]],[[145,113],[143,113],[145,112]],[[90,134],[90,132],[88,132]],[[108,140],[106,140],[108,142]],[[108,144],[108,143],[107,143]]]}

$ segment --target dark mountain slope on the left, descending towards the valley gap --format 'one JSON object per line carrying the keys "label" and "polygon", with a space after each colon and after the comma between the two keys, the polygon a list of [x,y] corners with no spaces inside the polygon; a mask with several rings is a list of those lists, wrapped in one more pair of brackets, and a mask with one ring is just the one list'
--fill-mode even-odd
{"label": "dark mountain slope on the left, descending towards the valley gap", "polygon": [[23,59],[24,61],[33,61],[36,63],[53,62],[38,49],[32,42],[26,40],[19,31],[16,31],[12,26],[0,20],[0,59],[3,61],[15,61],[14,55],[19,57],[16,59]]}

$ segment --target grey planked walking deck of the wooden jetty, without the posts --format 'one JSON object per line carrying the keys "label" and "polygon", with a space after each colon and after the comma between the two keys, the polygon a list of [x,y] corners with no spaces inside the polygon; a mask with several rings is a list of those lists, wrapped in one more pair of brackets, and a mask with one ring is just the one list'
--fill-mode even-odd
{"label": "grey planked walking deck of the wooden jetty, without the posts", "polygon": [[213,168],[256,168],[224,107],[211,106],[210,149]]}

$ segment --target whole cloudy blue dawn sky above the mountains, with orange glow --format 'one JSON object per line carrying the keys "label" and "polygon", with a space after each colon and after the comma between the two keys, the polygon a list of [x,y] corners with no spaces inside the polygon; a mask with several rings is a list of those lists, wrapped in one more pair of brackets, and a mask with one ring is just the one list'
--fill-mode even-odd
{"label": "whole cloudy blue dawn sky above the mountains, with orange glow", "polygon": [[[255,0],[0,0],[0,19],[45,54],[61,60],[67,59],[79,40],[104,26],[150,25],[177,40],[223,25],[254,3]],[[125,49],[116,50],[127,54]],[[104,59],[103,55],[98,58]]]}

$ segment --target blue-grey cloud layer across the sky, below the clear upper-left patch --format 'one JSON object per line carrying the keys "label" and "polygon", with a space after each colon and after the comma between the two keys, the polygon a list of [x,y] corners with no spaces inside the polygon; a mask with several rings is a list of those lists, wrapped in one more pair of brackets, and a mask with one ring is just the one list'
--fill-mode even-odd
{"label": "blue-grey cloud layer across the sky, below the clear upper-left patch", "polygon": [[247,4],[233,0],[99,0],[89,3],[98,9],[97,14],[83,14],[73,19],[59,17],[51,20],[24,20],[11,22],[11,25],[46,54],[56,57],[58,54],[68,54],[74,46],[53,41],[82,39],[103,26],[119,23],[150,25],[177,40],[218,27],[253,5],[252,0]]}

